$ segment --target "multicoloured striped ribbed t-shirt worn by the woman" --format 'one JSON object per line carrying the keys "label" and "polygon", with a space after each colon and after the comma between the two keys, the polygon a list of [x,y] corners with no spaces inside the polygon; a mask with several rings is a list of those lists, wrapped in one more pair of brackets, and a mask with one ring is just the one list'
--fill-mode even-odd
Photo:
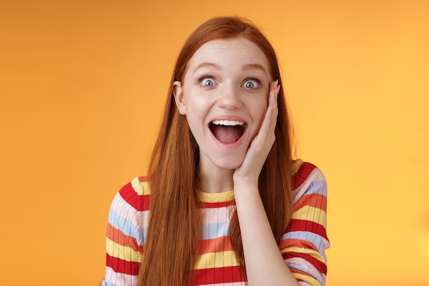
{"label": "multicoloured striped ribbed t-shirt worn by the woman", "polygon": [[[293,217],[280,240],[279,251],[300,285],[325,285],[326,180],[317,167],[294,164]],[[200,193],[203,240],[192,274],[192,285],[244,286],[245,277],[228,237],[234,211],[234,191]],[[106,238],[103,286],[135,286],[147,235],[149,184],[134,178],[114,197]]]}

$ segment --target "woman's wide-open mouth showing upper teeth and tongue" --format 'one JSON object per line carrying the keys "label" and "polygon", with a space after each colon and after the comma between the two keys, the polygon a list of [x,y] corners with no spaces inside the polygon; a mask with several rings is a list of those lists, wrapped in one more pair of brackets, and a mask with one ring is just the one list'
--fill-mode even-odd
{"label": "woman's wide-open mouth showing upper teeth and tongue", "polygon": [[235,120],[215,120],[208,126],[216,139],[224,144],[232,144],[243,136],[247,124]]}

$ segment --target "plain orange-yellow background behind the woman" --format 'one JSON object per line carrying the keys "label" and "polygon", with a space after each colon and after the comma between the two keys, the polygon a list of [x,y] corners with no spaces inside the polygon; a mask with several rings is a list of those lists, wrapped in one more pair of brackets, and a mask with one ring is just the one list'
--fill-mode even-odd
{"label": "plain orange-yellow background behind the woman", "polygon": [[1,285],[97,285],[114,194],[145,174],[173,63],[239,14],[281,61],[328,178],[328,286],[429,285],[428,1],[1,1]]}

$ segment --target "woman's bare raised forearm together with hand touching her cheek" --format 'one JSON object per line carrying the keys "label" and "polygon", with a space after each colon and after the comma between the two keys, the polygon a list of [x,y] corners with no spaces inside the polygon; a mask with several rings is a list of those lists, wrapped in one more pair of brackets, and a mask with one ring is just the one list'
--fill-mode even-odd
{"label": "woman's bare raised forearm together with hand touching her cheek", "polygon": [[[275,140],[278,82],[271,83],[269,107],[243,164],[234,171],[234,196],[249,286],[299,285],[284,263],[258,191],[258,177]],[[263,261],[263,263],[262,263]]]}

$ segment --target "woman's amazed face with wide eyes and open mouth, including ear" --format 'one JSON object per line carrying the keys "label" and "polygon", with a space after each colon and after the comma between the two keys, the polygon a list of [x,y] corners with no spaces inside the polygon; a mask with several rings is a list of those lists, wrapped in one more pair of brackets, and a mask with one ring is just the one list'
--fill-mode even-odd
{"label": "woman's amazed face with wide eyes and open mouth, including ear", "polygon": [[243,163],[267,112],[270,83],[267,57],[246,38],[212,40],[195,52],[173,91],[199,145],[200,168]]}

